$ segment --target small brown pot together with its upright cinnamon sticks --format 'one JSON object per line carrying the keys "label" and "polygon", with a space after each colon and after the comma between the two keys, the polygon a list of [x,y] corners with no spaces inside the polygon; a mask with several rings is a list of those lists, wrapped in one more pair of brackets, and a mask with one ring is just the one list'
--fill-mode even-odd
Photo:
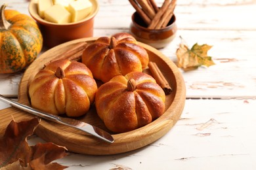
{"label": "small brown pot together with its upright cinnamon sticks", "polygon": [[129,0],[136,12],[131,17],[129,31],[137,41],[154,48],[164,48],[176,36],[174,9],[176,0],[165,0],[157,7],[154,0]]}

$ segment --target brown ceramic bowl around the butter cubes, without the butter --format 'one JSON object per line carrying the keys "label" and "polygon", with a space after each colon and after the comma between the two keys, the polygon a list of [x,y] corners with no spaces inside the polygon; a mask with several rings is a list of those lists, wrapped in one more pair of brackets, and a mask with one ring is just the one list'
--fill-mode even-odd
{"label": "brown ceramic bowl around the butter cubes, without the butter", "polygon": [[41,18],[37,12],[37,0],[32,0],[28,7],[30,15],[36,20],[41,33],[43,35],[43,45],[52,48],[63,42],[72,41],[74,39],[93,37],[94,18],[98,12],[98,1],[90,0],[93,9],[89,16],[85,19],[68,24],[55,24],[47,22]]}

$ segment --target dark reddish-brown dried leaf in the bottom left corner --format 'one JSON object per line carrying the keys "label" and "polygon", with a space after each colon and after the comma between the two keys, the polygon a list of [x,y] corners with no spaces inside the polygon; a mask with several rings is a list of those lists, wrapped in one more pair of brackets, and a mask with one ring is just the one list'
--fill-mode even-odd
{"label": "dark reddish-brown dried leaf in the bottom left corner", "polygon": [[66,148],[53,143],[29,146],[27,137],[33,134],[39,119],[22,122],[12,120],[0,137],[0,169],[65,169],[51,161],[66,156]]}

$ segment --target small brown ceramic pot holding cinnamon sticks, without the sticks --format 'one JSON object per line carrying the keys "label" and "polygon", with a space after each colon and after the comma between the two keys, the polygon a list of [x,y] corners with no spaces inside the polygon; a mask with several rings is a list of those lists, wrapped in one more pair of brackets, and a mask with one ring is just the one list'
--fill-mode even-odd
{"label": "small brown ceramic pot holding cinnamon sticks, without the sticks", "polygon": [[154,48],[163,48],[173,41],[177,32],[175,15],[171,18],[166,27],[161,29],[148,29],[146,24],[137,12],[131,17],[129,31],[137,41],[144,42]]}

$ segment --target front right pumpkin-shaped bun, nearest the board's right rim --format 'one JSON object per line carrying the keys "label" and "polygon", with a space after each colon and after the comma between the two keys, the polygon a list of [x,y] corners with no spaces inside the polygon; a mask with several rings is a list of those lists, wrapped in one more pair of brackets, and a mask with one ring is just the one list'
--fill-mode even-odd
{"label": "front right pumpkin-shaped bun, nearest the board's right rim", "polygon": [[149,124],[165,110],[165,93],[146,73],[114,76],[98,88],[95,97],[98,116],[105,126],[122,133]]}

